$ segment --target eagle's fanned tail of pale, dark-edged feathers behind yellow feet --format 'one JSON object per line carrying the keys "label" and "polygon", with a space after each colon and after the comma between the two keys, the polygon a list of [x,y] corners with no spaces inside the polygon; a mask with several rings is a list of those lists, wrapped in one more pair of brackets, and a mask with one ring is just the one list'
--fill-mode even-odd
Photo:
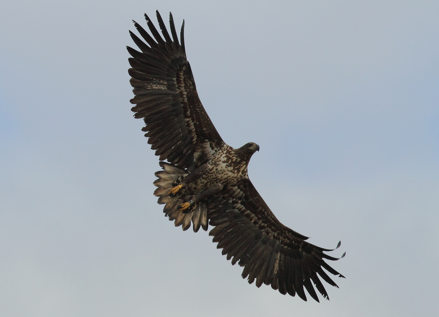
{"label": "eagle's fanned tail of pale, dark-edged feathers behind yellow feet", "polygon": [[155,176],[157,176],[158,179],[154,181],[154,185],[157,186],[154,195],[158,197],[157,202],[159,204],[165,205],[163,208],[165,216],[169,217],[169,220],[175,220],[175,226],[182,226],[184,231],[191,227],[191,222],[193,223],[194,232],[197,232],[200,227],[202,227],[204,231],[207,231],[209,219],[207,216],[208,207],[206,202],[199,202],[194,205],[191,213],[183,213],[181,210],[178,210],[178,206],[186,202],[184,187],[176,196],[169,196],[169,191],[183,178],[182,175],[187,174],[187,171],[166,162],[160,162],[160,166],[163,170],[155,172]]}

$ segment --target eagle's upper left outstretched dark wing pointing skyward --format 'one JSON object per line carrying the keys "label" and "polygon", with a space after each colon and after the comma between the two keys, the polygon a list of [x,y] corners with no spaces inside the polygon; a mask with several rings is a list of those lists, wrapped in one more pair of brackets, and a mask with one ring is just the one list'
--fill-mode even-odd
{"label": "eagle's upper left outstretched dark wing pointing skyward", "polygon": [[154,39],[137,22],[134,26],[144,43],[133,32],[130,35],[141,52],[127,47],[133,58],[128,70],[136,104],[131,110],[135,118],[144,118],[142,129],[148,143],[160,160],[184,169],[192,169],[209,160],[213,151],[224,142],[210,121],[195,87],[191,66],[184,50],[184,21],[180,43],[169,14],[171,36],[156,11],[164,40],[148,15],[145,18]]}

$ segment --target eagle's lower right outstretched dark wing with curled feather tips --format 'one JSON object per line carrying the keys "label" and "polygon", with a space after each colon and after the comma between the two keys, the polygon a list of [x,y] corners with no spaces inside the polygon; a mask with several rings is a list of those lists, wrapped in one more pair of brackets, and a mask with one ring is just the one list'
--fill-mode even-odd
{"label": "eagle's lower right outstretched dark wing with curled feather tips", "polygon": [[244,267],[242,277],[248,277],[250,284],[255,280],[257,287],[271,284],[282,294],[297,293],[303,300],[305,287],[319,302],[313,284],[329,299],[319,276],[338,287],[323,268],[343,277],[324,261],[338,259],[324,254],[332,250],[306,242],[307,237],[280,223],[248,179],[212,199],[209,219],[209,224],[215,226],[209,232],[213,242],[218,242],[217,248],[223,249],[228,260],[233,257],[233,265],[239,261]]}

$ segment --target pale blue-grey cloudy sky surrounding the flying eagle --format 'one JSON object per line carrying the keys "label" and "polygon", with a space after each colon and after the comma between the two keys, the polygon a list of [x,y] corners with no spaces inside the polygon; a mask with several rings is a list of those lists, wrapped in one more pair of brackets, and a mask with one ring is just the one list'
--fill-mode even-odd
{"label": "pale blue-grey cloudy sky surrounding the flying eagle", "polygon": [[[439,2],[219,3],[1,2],[0,315],[439,316]],[[156,9],[278,219],[342,240],[331,301],[248,285],[163,216],[125,49]]]}

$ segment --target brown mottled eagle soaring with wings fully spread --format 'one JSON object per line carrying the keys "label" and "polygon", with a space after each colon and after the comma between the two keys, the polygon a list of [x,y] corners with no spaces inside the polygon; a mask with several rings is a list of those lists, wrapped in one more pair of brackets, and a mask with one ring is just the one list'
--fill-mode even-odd
{"label": "brown mottled eagle soaring with wings fully spread", "polygon": [[155,173],[154,195],[165,205],[165,216],[183,230],[191,223],[194,232],[212,226],[209,235],[217,249],[232,265],[244,267],[248,283],[271,285],[305,301],[306,289],[319,302],[315,287],[329,299],[320,278],[338,286],[323,269],[344,276],[325,259],[340,258],[324,253],[334,249],[310,244],[308,237],[277,220],[248,178],[248,162],[259,145],[249,142],[235,149],[223,141],[198,98],[184,48],[184,20],[179,41],[172,14],[171,34],[158,11],[156,15],[162,34],[145,14],[151,35],[133,21],[143,40],[130,31],[140,51],[126,48],[132,56],[131,110],[135,118],[143,118],[142,131],[159,156],[162,170]]}

